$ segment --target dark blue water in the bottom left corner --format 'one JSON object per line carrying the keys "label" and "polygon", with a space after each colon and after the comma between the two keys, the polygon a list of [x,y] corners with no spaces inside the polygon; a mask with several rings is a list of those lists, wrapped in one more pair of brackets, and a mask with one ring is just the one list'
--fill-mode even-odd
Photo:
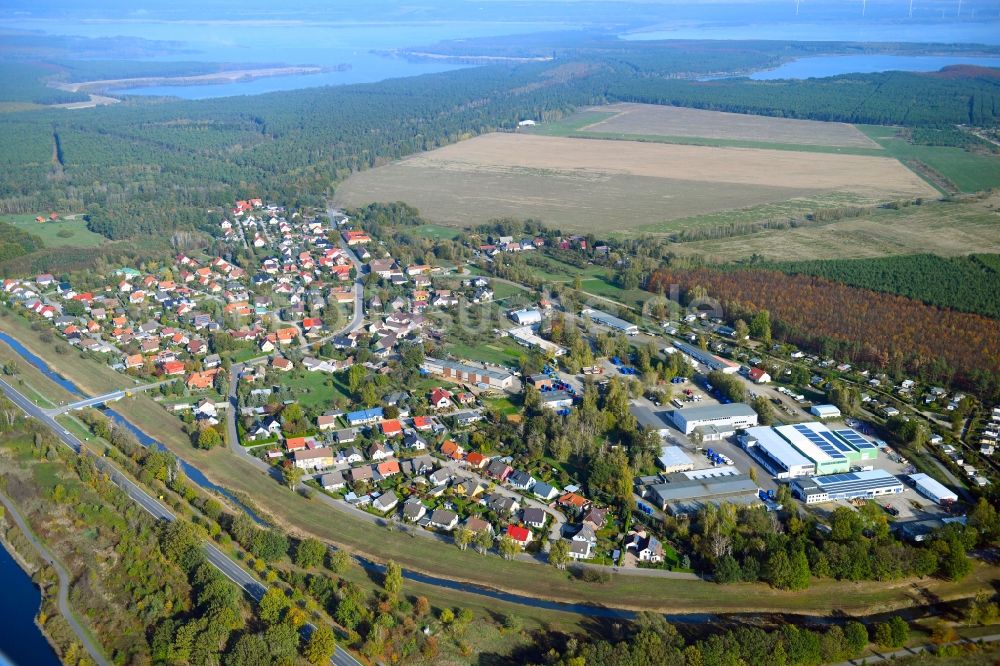
{"label": "dark blue water in the bottom left corner", "polygon": [[59,658],[35,626],[42,593],[3,547],[0,585],[0,666],[59,666]]}

